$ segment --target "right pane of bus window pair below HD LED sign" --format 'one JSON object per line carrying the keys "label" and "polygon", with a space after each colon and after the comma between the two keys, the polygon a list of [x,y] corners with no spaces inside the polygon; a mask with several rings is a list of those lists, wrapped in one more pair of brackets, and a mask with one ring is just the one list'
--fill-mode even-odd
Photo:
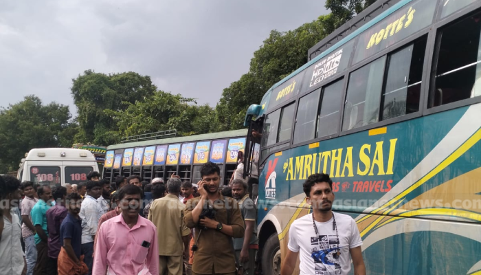
{"label": "right pane of bus window pair below HD LED sign", "polygon": [[322,103],[319,115],[317,115],[315,137],[326,137],[339,132],[339,120],[341,120],[339,108],[342,106],[343,79],[337,80],[322,89]]}

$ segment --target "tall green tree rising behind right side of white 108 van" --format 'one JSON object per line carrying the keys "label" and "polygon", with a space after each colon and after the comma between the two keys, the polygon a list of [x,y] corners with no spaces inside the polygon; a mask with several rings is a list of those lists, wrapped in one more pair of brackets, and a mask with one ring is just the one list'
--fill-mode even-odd
{"label": "tall green tree rising behind right side of white 108 van", "polygon": [[87,70],[72,82],[80,126],[75,140],[104,146],[118,141],[119,129],[108,111],[123,111],[128,106],[123,102],[142,102],[157,91],[149,76],[135,72],[107,75]]}

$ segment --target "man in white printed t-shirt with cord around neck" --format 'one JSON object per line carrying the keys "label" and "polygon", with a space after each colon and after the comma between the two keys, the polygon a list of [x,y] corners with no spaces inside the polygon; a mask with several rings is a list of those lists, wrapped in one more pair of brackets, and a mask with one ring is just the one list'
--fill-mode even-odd
{"label": "man in white printed t-shirt with cord around neck", "polygon": [[280,274],[291,275],[300,254],[301,275],[347,275],[351,258],[354,274],[366,275],[356,222],[346,214],[332,211],[333,181],[329,175],[311,175],[303,187],[313,213],[292,223]]}

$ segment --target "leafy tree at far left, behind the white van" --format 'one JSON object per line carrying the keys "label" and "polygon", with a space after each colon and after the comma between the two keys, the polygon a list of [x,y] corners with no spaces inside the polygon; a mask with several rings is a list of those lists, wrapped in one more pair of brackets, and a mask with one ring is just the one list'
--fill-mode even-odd
{"label": "leafy tree at far left, behind the white van", "polygon": [[19,168],[20,159],[32,148],[71,147],[77,125],[69,107],[26,96],[0,110],[0,173]]}

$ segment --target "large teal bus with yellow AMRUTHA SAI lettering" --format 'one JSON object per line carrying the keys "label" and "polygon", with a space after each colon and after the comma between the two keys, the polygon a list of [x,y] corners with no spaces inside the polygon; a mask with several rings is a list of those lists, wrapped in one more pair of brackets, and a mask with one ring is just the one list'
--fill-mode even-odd
{"label": "large teal bus with yellow AMRUTHA SAI lettering", "polygon": [[380,0],[249,107],[263,274],[313,173],[357,222],[366,274],[481,274],[480,34],[481,1]]}

